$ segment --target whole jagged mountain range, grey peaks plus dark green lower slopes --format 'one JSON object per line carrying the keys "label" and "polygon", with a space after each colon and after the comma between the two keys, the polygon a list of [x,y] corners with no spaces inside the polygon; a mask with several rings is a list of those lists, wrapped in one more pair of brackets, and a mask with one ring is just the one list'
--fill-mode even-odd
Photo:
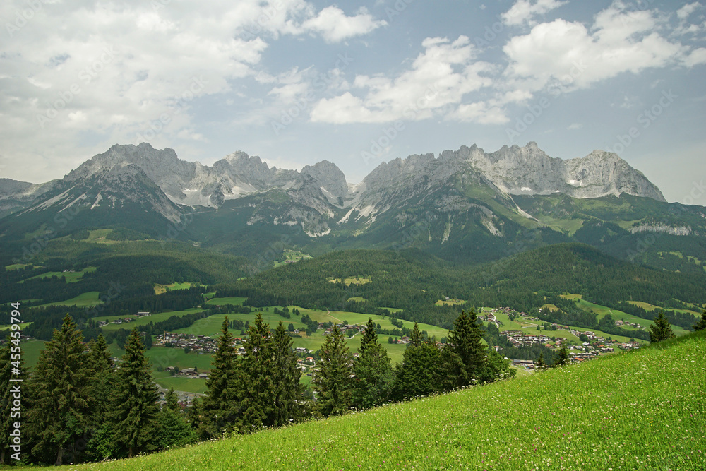
{"label": "whole jagged mountain range, grey peaks plus dark green lower slopes", "polygon": [[114,145],[63,179],[0,179],[0,215],[5,241],[40,228],[63,237],[124,227],[251,258],[416,247],[489,261],[578,241],[662,268],[701,270],[706,260],[706,208],[667,203],[614,153],[562,160],[534,142],[410,155],[357,185],[327,160],[297,171],[236,152],[206,166],[148,143]]}

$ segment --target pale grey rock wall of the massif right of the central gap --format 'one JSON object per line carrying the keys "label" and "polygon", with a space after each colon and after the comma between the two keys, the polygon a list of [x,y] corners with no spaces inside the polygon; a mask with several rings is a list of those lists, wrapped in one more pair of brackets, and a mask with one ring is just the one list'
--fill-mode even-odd
{"label": "pale grey rock wall of the massif right of the central gap", "polygon": [[410,155],[383,163],[357,187],[351,205],[359,215],[374,216],[435,189],[452,188],[456,179],[509,195],[563,193],[599,198],[627,193],[664,201],[657,186],[614,153],[594,150],[586,157],[561,160],[530,142],[522,148],[505,145],[493,153],[472,145],[445,150],[438,158]]}

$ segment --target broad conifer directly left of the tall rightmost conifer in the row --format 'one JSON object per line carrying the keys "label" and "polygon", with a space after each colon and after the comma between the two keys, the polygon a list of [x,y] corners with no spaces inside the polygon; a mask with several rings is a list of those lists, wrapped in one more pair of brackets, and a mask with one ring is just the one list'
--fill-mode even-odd
{"label": "broad conifer directly left of the tall rightmost conifer in the row", "polygon": [[419,324],[414,323],[402,364],[395,368],[390,397],[395,400],[427,395],[438,390],[439,352],[436,342],[424,342]]}

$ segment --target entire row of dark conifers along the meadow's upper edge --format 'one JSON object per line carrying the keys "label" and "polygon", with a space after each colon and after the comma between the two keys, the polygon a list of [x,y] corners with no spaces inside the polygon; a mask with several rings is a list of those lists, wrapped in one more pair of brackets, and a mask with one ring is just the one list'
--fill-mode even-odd
{"label": "entire row of dark conifers along the meadow's upper edge", "polygon": [[[292,338],[280,321],[270,330],[261,314],[237,354],[226,317],[206,382],[208,393],[184,411],[173,391],[160,408],[133,328],[125,354],[114,364],[102,335],[88,343],[68,314],[40,352],[23,383],[23,463],[82,463],[184,446],[232,433],[281,427],[312,417],[341,415],[390,400],[443,393],[513,376],[509,362],[481,342],[474,311],[463,312],[441,348],[415,324],[402,364],[393,368],[370,318],[354,357],[333,326],[318,355],[313,397],[301,384]],[[8,394],[11,343],[0,347],[0,378]],[[25,389],[26,388],[26,393]],[[5,406],[9,402],[3,402]],[[7,422],[10,415],[3,415]],[[2,424],[6,463],[10,427]],[[6,433],[7,432],[7,433]]]}

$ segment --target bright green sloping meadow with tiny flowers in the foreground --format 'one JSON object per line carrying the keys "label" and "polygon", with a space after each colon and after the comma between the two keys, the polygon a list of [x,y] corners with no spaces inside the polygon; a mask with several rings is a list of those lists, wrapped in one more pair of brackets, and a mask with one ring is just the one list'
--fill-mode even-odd
{"label": "bright green sloping meadow with tiny flowers in the foreground", "polygon": [[706,332],[587,364],[55,470],[704,470]]}

